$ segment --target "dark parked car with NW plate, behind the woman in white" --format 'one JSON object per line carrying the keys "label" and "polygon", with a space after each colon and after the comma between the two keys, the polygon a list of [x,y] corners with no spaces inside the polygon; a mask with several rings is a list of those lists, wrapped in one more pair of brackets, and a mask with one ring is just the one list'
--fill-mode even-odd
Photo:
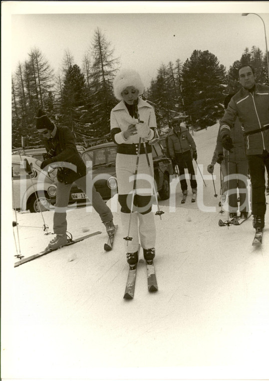
{"label": "dark parked car with NW plate, behind the woman in white", "polygon": [[[117,194],[116,152],[116,144],[109,142],[90,147],[82,154],[86,166],[92,167],[95,187],[104,200],[109,200]],[[152,157],[154,178],[157,184],[156,191],[161,200],[167,200],[170,197],[172,162],[158,142],[152,145]]]}

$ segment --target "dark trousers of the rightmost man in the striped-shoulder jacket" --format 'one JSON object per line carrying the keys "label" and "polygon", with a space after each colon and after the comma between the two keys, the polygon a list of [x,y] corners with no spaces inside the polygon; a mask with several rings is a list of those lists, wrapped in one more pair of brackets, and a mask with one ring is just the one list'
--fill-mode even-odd
{"label": "dark trousers of the rightmost man in the striped-shoulder jacket", "polygon": [[269,160],[269,153],[264,150],[261,155],[247,155],[250,182],[251,182],[251,210],[252,214],[264,217],[266,211],[265,200],[265,163]]}

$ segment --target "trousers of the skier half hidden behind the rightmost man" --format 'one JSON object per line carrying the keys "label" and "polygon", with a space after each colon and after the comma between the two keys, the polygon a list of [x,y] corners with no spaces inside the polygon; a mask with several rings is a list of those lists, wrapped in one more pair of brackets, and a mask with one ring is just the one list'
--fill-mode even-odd
{"label": "trousers of the skier half hidden behind the rightmost man", "polygon": [[229,212],[236,213],[238,210],[237,188],[240,199],[239,211],[248,212],[247,170],[247,160],[229,161]]}

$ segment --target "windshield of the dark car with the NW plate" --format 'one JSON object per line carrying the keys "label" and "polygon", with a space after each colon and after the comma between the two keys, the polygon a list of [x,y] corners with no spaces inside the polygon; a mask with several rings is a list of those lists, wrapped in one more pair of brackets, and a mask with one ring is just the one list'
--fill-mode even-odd
{"label": "windshield of the dark car with the NW plate", "polygon": [[91,166],[89,162],[93,167],[113,165],[116,161],[116,151],[116,146],[93,149],[83,153],[83,160],[87,166]]}

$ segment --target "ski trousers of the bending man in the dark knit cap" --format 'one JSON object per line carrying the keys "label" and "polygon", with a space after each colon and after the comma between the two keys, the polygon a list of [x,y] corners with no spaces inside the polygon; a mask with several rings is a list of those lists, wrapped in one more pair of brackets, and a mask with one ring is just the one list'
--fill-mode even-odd
{"label": "ski trousers of the bending man in the dark knit cap", "polygon": [[[91,201],[94,210],[100,215],[102,222],[108,222],[113,219],[113,215],[109,207],[106,205],[101,195],[95,189],[93,180],[89,174],[75,181],[75,183],[83,190],[85,195]],[[66,211],[69,202],[70,190],[72,184],[65,184],[58,181],[55,212],[53,216],[53,228],[55,234],[65,234],[67,231]]]}

